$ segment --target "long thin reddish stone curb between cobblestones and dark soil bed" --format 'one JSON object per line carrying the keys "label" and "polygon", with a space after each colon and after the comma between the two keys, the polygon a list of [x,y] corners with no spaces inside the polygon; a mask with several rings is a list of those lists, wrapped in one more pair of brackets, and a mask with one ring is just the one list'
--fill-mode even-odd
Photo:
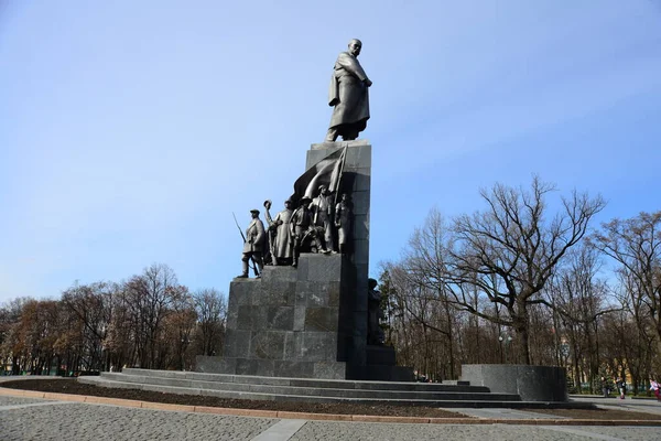
{"label": "long thin reddish stone curb between cobblestones and dark soil bed", "polygon": [[661,427],[661,420],[584,420],[584,419],[499,419],[499,418],[425,418],[425,417],[381,417],[376,415],[335,415],[290,412],[283,410],[251,410],[206,406],[169,405],[163,402],[138,401],[122,398],[106,398],[87,395],[40,392],[36,390],[10,389],[0,387],[0,396],[43,398],[58,401],[111,405],[151,410],[177,412],[215,413],[252,418],[278,418],[314,421],[389,422],[414,424],[514,424],[514,426],[647,426]]}

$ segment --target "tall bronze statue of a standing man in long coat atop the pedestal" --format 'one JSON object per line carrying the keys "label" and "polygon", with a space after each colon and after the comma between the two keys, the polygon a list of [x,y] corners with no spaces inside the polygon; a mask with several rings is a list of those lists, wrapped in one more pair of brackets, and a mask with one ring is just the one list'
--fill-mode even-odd
{"label": "tall bronze statue of a standing man in long coat atop the pedestal", "polygon": [[345,141],[356,139],[367,127],[372,82],[358,63],[361,49],[360,40],[354,39],[348,51],[337,56],[328,89],[328,105],[335,108],[324,142],[334,142],[338,136]]}

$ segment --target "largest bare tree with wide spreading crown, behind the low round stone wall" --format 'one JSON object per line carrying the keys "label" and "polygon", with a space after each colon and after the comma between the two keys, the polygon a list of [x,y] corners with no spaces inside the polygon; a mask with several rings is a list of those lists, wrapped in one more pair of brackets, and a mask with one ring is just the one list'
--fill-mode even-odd
{"label": "largest bare tree with wide spreading crown, behind the low round stone wall", "polygon": [[[585,235],[588,223],[605,206],[600,196],[576,191],[562,197],[562,208],[549,219],[546,195],[555,186],[533,178],[530,191],[495,185],[480,195],[487,209],[456,218],[455,243],[448,248],[454,303],[483,319],[511,326],[519,362],[531,363],[530,306],[549,304],[540,292],[566,251]],[[469,294],[485,295],[507,316],[475,308]]]}

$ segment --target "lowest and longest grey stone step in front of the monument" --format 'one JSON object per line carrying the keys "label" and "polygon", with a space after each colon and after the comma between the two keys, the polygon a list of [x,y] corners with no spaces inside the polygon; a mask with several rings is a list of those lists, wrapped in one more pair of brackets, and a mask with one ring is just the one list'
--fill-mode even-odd
{"label": "lowest and longest grey stone step in front of the monument", "polygon": [[259,392],[241,392],[214,389],[197,389],[187,387],[160,386],[151,384],[137,384],[128,381],[117,381],[106,379],[105,377],[79,377],[78,381],[102,387],[128,388],[152,390],[165,394],[182,394],[182,395],[201,395],[219,398],[235,399],[257,399],[272,401],[299,401],[299,402],[357,402],[364,405],[398,405],[398,406],[427,406],[441,408],[548,408],[550,404],[540,401],[519,401],[519,400],[501,400],[494,399],[383,399],[383,398],[345,398],[345,397],[326,397],[326,396],[297,396],[297,395],[278,395],[278,394],[259,394]]}

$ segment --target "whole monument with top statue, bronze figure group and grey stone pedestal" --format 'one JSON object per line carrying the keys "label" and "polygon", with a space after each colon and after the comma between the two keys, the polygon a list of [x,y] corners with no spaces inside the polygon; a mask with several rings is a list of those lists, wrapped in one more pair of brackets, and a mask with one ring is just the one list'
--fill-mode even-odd
{"label": "whole monument with top statue, bronze figure group and grey stone pedestal", "polygon": [[[368,282],[371,146],[357,140],[369,119],[372,85],[358,63],[361,49],[351,40],[337,57],[326,139],[307,151],[285,209],[271,218],[271,201],[264,202],[268,234],[251,212],[242,272],[230,283],[224,355],[198,356],[196,370],[413,380],[410,368],[395,366],[394,348],[375,336],[373,313],[368,332],[369,293],[378,291]],[[267,243],[256,247],[249,241],[258,235]],[[271,256],[263,267],[262,250]],[[259,277],[247,277],[249,259]]]}

